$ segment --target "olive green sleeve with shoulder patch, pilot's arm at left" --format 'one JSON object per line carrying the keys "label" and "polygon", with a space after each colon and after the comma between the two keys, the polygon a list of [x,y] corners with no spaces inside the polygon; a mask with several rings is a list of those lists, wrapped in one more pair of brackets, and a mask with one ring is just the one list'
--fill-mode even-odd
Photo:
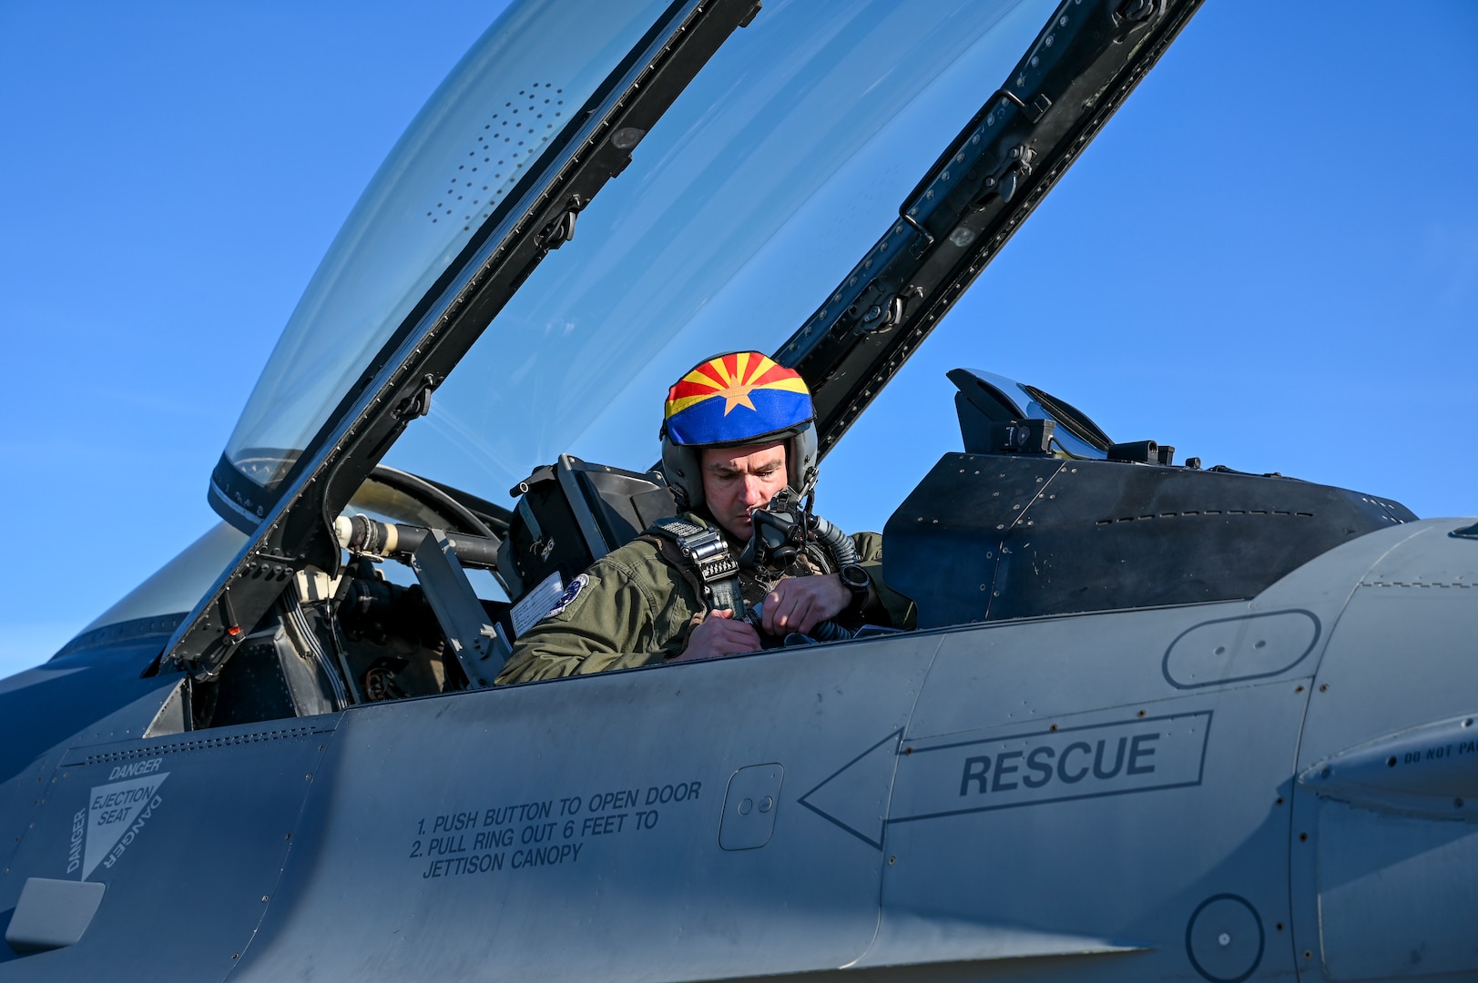
{"label": "olive green sleeve with shoulder patch, pilot's arm at left", "polygon": [[562,606],[513,644],[495,684],[602,673],[681,653],[693,606],[671,582],[606,557],[571,581]]}

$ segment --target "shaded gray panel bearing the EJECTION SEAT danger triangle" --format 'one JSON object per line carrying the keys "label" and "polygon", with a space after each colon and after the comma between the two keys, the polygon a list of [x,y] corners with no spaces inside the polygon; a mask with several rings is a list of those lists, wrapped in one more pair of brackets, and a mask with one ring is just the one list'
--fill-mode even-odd
{"label": "shaded gray panel bearing the EJECTION SEAT danger triangle", "polygon": [[[336,723],[68,749],[4,872],[28,950],[0,980],[223,980],[276,893]],[[83,900],[95,908],[78,921]]]}

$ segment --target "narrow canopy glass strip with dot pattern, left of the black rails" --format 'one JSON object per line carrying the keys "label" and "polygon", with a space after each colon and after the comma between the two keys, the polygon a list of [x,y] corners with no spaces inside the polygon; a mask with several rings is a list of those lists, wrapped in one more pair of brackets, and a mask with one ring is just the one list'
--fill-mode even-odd
{"label": "narrow canopy glass strip with dot pattern, left of the black rails", "polygon": [[519,0],[417,114],[334,238],[226,445],[275,485],[418,300],[670,0]]}

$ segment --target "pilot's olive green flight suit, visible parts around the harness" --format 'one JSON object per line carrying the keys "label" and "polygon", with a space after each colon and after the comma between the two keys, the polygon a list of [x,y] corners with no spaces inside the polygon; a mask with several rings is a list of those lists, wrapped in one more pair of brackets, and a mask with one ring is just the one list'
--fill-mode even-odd
{"label": "pilot's olive green flight suit, visible parts around the harness", "polygon": [[[712,528],[712,522],[692,513],[680,517]],[[878,615],[871,619],[912,628],[913,602],[882,584],[882,537],[860,532],[853,542],[857,562],[868,571],[876,591],[869,609],[876,609]],[[729,544],[738,556],[739,547],[732,540]],[[705,613],[698,591],[646,540],[633,540],[596,560],[571,581],[572,588],[576,584],[573,596],[566,590],[568,602],[562,599],[562,606],[514,643],[508,662],[495,680],[498,684],[624,670],[677,658],[687,643],[687,633]]]}

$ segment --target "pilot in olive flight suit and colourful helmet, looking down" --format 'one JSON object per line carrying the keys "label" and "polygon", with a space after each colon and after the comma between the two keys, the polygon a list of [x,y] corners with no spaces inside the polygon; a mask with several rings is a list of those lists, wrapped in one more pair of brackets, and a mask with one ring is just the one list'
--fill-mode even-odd
{"label": "pilot in olive flight suit and colourful helmet, looking down", "polygon": [[770,506],[761,520],[779,514],[772,500],[780,495],[794,517],[816,483],[813,420],[800,374],[758,352],[695,365],[668,390],[661,433],[681,514],[571,581],[514,643],[497,681],[754,652],[811,633],[842,637],[838,624],[912,627],[913,603],[881,582],[875,532],[848,538],[810,517],[831,542],[822,562],[814,542],[792,550],[783,569],[754,559],[751,513]]}

